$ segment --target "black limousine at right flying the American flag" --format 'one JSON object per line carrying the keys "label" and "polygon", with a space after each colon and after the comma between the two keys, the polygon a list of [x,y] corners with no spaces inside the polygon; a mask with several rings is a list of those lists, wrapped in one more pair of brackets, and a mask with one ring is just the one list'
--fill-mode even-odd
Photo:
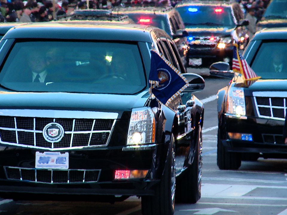
{"label": "black limousine at right flying the American flag", "polygon": [[[286,38],[287,28],[257,32],[243,56],[261,79],[242,87],[242,77],[234,73],[230,84],[218,91],[220,169],[238,169],[242,160],[259,157],[286,158],[282,137],[287,107]],[[210,69],[211,74],[222,75],[229,66],[221,62]]]}

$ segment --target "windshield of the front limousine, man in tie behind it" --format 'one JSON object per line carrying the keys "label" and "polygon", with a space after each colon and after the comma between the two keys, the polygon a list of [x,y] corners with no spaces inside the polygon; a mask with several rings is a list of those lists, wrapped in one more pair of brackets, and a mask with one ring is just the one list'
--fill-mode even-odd
{"label": "windshield of the front limousine, man in tie behind it", "polygon": [[134,94],[146,87],[146,75],[136,43],[17,42],[0,84],[17,91]]}

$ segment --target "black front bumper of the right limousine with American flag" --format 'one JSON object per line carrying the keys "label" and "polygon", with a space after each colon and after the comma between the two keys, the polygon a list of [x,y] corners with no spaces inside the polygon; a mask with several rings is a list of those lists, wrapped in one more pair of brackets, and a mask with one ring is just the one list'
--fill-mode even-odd
{"label": "black front bumper of the right limousine with American flag", "polygon": [[[262,154],[287,154],[283,142],[284,121],[259,118],[236,118],[225,115],[225,124],[220,129],[222,144],[230,152]],[[231,139],[228,133],[251,134],[252,141]]]}

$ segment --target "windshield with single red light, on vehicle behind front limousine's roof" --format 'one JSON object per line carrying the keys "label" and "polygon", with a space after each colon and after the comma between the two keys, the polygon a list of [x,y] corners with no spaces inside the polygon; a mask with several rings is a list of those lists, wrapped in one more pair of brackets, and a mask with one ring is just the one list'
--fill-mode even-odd
{"label": "windshield with single red light, on vehicle behind front limousine's roof", "polygon": [[167,22],[166,15],[144,14],[144,13],[130,13],[127,14],[135,24],[152,25],[158,27],[171,36],[171,27]]}

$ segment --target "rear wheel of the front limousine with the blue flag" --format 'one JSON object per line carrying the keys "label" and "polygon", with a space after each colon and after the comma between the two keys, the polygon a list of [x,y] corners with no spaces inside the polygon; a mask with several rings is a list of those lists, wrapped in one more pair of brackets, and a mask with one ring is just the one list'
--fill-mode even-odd
{"label": "rear wheel of the front limousine with the blue flag", "polygon": [[201,197],[202,131],[198,128],[195,154],[191,166],[176,185],[176,202],[196,203]]}

